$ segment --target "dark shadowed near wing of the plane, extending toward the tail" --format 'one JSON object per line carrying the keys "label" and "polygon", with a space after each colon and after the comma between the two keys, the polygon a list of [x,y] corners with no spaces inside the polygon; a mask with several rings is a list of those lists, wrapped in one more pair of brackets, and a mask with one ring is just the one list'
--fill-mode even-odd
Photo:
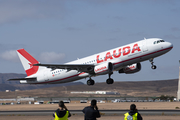
{"label": "dark shadowed near wing of the plane, extending toward the tail", "polygon": [[51,68],[52,70],[55,69],[67,69],[70,70],[77,70],[79,72],[87,72],[91,73],[94,70],[94,64],[34,64],[34,66],[44,66],[47,68]]}

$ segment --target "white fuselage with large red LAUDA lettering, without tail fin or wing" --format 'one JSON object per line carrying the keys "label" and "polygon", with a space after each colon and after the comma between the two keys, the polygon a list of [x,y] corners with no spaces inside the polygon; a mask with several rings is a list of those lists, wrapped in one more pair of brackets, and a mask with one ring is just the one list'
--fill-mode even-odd
{"label": "white fuselage with large red LAUDA lettering, without tail fin or wing", "polygon": [[[170,51],[172,49],[172,44],[169,42],[159,42],[162,40],[159,38],[151,38],[141,40],[135,43],[131,43],[125,46],[114,48],[105,52],[94,54],[82,59],[78,59],[66,64],[94,64],[100,65],[106,62],[111,62],[113,64],[113,71],[118,71],[127,65],[134,63],[140,63],[151,58],[158,57]],[[95,70],[94,75],[101,75],[98,71],[102,71],[104,67]],[[28,77],[37,77],[37,81],[26,81],[21,80],[21,83],[28,84],[55,84],[55,83],[65,83],[82,78],[89,77],[89,73],[80,72],[78,70],[67,70],[67,69],[55,69],[40,67],[36,74]]]}

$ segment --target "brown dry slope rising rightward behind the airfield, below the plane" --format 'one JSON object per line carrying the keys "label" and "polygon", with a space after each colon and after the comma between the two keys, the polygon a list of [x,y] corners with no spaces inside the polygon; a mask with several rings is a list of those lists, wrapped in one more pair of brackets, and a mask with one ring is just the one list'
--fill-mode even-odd
{"label": "brown dry slope rising rightward behind the airfield, below the plane", "polygon": [[[96,83],[94,86],[71,85],[58,86],[33,90],[23,90],[17,92],[0,92],[0,98],[21,97],[152,97],[169,95],[176,96],[178,89],[178,80],[160,80],[160,81],[136,81],[136,82],[116,82],[112,85],[106,83]],[[120,95],[88,95],[71,94],[72,91],[116,91]]]}

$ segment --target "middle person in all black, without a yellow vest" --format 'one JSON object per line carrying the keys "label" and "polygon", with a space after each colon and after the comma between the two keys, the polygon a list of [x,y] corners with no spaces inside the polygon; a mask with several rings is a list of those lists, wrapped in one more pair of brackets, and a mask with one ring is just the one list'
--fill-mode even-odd
{"label": "middle person in all black, without a yellow vest", "polygon": [[96,118],[101,117],[95,99],[91,100],[90,106],[85,107],[82,112],[84,113],[84,120],[96,120]]}

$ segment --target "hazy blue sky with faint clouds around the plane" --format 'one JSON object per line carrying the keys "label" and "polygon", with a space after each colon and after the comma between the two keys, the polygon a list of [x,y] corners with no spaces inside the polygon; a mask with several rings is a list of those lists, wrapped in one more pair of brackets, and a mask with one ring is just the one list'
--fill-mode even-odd
{"label": "hazy blue sky with faint clouds around the plane", "polygon": [[[174,48],[116,81],[176,79],[180,51],[179,0],[0,0],[1,73],[25,73],[16,50],[41,63],[73,61],[145,38],[162,38]],[[93,78],[104,82],[108,75]],[[86,80],[82,80],[86,82]]]}

